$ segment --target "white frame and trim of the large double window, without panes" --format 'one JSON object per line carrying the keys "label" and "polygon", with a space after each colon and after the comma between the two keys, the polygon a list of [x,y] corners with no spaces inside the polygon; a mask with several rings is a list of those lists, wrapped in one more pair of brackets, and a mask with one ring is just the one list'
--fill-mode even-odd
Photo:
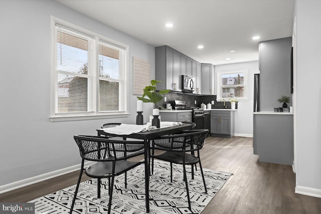
{"label": "white frame and trim of the large double window, without panes", "polygon": [[[56,113],[57,101],[56,101],[56,93],[57,93],[57,81],[58,81],[58,72],[56,69],[57,63],[57,38],[56,38],[56,26],[62,26],[64,29],[70,30],[71,32],[75,32],[77,34],[84,35],[85,37],[89,37],[90,43],[88,50],[88,75],[90,79],[90,87],[88,90],[91,93],[88,95],[88,99],[91,99],[93,102],[92,111],[84,112],[84,113]],[[73,25],[56,17],[51,17],[51,87],[50,87],[50,120],[52,122],[60,122],[60,121],[75,121],[75,120],[91,120],[91,119],[104,119],[104,118],[121,118],[129,116],[129,87],[128,87],[128,76],[129,76],[129,47],[128,45],[122,44],[120,42],[111,40],[99,34],[93,33],[86,29],[83,29],[79,26]],[[108,112],[99,112],[99,42],[108,44],[115,49],[121,50],[120,61],[119,61],[119,107],[118,111],[108,111]],[[60,72],[61,73],[61,72]],[[77,76],[81,76],[81,74],[77,74]],[[104,78],[104,80],[111,78]]]}

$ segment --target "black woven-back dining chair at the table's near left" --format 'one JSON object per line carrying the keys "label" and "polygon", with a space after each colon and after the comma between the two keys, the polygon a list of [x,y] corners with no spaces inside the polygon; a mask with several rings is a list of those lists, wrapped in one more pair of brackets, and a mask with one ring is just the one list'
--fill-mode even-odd
{"label": "black woven-back dining chair at the table's near left", "polygon": [[[92,178],[98,179],[97,197],[100,198],[100,179],[111,178],[108,181],[108,214],[111,210],[112,190],[115,176],[122,174],[142,163],[143,161],[127,161],[127,158],[135,157],[144,152],[143,141],[116,140],[106,136],[75,135],[74,139],[79,147],[81,160],[80,174],[70,208],[72,213],[77,197],[77,192],[83,171]],[[96,163],[84,168],[84,161],[95,161]]]}

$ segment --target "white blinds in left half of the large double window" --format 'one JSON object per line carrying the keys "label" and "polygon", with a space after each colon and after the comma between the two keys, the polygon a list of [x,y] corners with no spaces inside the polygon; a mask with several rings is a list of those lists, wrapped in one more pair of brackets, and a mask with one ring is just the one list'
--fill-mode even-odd
{"label": "white blinds in left half of the large double window", "polygon": [[56,113],[91,111],[88,47],[90,38],[56,27]]}

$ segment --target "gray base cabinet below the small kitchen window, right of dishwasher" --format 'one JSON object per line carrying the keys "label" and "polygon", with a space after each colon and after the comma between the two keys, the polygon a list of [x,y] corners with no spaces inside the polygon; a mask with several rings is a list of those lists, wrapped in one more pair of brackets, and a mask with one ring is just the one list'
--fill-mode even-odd
{"label": "gray base cabinet below the small kitchen window, right of dishwasher", "polygon": [[234,136],[234,111],[211,110],[211,131],[214,137]]}

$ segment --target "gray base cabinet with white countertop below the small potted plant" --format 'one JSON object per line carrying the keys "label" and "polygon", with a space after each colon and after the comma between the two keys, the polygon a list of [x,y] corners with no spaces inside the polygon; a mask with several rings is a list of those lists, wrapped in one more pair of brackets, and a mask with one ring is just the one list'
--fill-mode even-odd
{"label": "gray base cabinet with white countertop below the small potted plant", "polygon": [[292,165],[293,115],[257,112],[253,125],[253,153],[259,156],[259,161]]}

